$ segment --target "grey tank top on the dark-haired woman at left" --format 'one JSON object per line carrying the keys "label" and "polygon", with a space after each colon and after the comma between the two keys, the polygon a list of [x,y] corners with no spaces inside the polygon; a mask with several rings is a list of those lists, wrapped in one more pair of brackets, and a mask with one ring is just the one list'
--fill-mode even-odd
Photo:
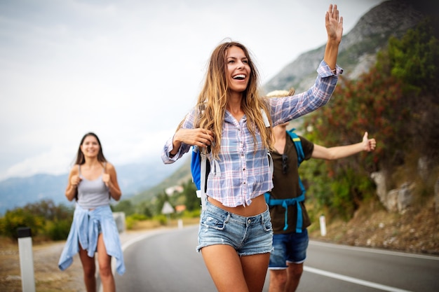
{"label": "grey tank top on the dark-haired woman at left", "polygon": [[81,165],[78,165],[79,177],[82,179],[78,185],[78,204],[83,209],[94,209],[110,203],[110,195],[107,186],[102,181],[102,174],[97,179],[89,181],[81,174]]}

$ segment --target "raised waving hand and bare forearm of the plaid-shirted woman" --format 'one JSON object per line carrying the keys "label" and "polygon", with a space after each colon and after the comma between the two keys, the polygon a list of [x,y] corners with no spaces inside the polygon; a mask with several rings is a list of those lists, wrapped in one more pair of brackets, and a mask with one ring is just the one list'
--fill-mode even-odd
{"label": "raised waving hand and bare forearm of the plaid-shirted woman", "polygon": [[337,55],[339,53],[339,44],[343,35],[343,18],[339,16],[337,5],[330,4],[325,15],[325,27],[327,32],[327,43],[325,48],[326,64],[331,70],[335,69],[337,64]]}

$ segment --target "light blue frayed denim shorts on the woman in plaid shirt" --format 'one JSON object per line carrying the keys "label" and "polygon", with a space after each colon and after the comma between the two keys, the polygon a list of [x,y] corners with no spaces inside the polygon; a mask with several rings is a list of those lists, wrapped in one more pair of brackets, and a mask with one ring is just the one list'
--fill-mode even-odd
{"label": "light blue frayed denim shorts on the woman in plaid shirt", "polygon": [[198,246],[227,244],[239,256],[269,253],[273,250],[273,228],[267,206],[262,214],[243,217],[206,202],[198,228]]}

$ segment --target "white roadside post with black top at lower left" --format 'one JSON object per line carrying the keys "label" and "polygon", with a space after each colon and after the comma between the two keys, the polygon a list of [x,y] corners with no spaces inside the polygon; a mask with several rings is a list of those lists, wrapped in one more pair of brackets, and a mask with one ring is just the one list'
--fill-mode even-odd
{"label": "white roadside post with black top at lower left", "polygon": [[35,292],[34,255],[29,227],[17,228],[18,251],[20,253],[21,286],[23,292]]}

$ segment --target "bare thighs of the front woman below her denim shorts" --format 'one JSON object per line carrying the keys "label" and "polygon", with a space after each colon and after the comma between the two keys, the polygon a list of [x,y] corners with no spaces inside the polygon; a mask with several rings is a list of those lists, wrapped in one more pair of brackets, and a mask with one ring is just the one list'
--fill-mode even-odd
{"label": "bare thighs of the front woman below her denim shorts", "polygon": [[261,292],[264,288],[270,253],[253,256],[238,256],[229,245],[205,246],[201,249],[219,292]]}

